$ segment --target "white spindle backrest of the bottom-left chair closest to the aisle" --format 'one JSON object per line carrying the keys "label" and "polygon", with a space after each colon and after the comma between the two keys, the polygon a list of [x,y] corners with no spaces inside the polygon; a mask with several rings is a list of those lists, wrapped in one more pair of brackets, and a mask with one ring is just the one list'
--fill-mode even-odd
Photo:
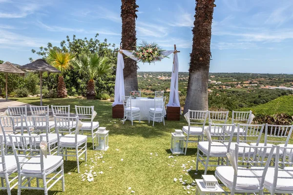
{"label": "white spindle backrest of the bottom-left chair closest to the aisle", "polygon": [[[42,150],[40,150],[39,144],[42,140],[42,137],[39,136],[28,136],[28,135],[9,135],[10,140],[12,141],[12,149],[14,156],[16,158],[18,172],[21,172],[21,166],[25,164],[34,165],[35,167],[40,167],[40,171],[42,174],[45,173],[44,164],[43,164],[43,154]],[[32,159],[32,158],[39,158],[36,160],[29,161],[22,160],[20,158]],[[42,175],[40,174],[40,175]]]}

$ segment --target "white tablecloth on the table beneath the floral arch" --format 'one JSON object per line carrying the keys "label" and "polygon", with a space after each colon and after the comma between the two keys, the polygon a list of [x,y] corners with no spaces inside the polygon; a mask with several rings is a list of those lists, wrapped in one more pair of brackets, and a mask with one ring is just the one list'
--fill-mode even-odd
{"label": "white tablecloth on the table beneath the floral arch", "polygon": [[[151,98],[150,99],[148,98],[131,99],[131,106],[140,108],[141,120],[148,120],[149,108],[155,107],[155,100]],[[166,110],[164,107],[164,116],[165,115],[166,115]],[[162,119],[159,120],[159,118],[156,118],[155,121],[162,122],[163,120]]]}

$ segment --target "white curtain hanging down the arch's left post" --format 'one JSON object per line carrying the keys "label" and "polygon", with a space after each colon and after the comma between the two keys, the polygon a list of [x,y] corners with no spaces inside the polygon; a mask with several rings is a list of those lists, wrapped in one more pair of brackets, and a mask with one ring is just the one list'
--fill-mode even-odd
{"label": "white curtain hanging down the arch's left post", "polygon": [[122,96],[125,96],[123,69],[124,69],[123,55],[120,52],[118,52],[116,79],[115,79],[114,103],[112,104],[112,106],[115,106],[117,104],[123,104]]}

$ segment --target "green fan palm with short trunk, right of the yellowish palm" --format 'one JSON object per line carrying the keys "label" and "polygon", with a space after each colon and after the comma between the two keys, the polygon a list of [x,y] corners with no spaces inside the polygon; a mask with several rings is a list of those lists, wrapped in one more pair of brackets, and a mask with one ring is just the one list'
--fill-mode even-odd
{"label": "green fan palm with short trunk, right of the yellowish palm", "polygon": [[94,78],[102,77],[112,72],[113,63],[106,57],[101,57],[97,53],[89,56],[83,55],[80,59],[72,60],[73,67],[85,77],[88,77],[86,98],[96,97]]}

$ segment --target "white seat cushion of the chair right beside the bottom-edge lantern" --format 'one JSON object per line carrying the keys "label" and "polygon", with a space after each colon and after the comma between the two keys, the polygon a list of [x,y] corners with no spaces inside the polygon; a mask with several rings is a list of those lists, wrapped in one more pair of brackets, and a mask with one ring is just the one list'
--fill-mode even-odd
{"label": "white seat cushion of the chair right beside the bottom-edge lantern", "polygon": [[[234,169],[231,166],[219,166],[216,168],[216,173],[219,179],[231,189],[233,184]],[[239,176],[254,176],[249,170],[238,170]],[[237,177],[236,189],[255,190],[259,188],[259,181],[257,178]]]}

